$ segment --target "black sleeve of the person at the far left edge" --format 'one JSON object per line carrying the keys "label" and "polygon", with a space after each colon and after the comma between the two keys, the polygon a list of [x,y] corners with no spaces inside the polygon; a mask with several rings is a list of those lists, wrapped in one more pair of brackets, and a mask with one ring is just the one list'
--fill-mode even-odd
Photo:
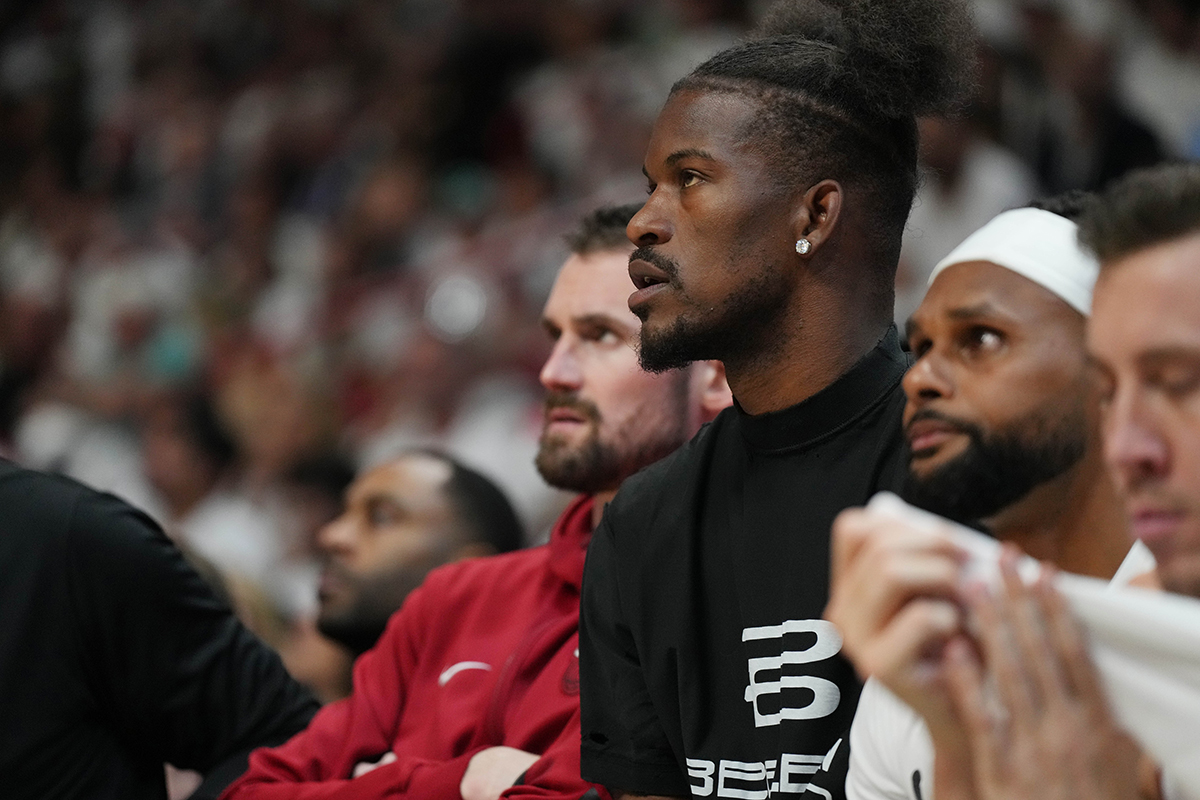
{"label": "black sleeve of the person at the far left edge", "polygon": [[254,747],[318,704],[145,515],[86,492],[71,515],[72,604],[100,714],[131,752],[208,776],[216,796]]}

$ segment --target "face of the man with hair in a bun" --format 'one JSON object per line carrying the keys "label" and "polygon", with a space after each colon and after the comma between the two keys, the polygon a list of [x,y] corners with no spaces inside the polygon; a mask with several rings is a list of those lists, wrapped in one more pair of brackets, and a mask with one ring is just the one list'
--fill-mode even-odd
{"label": "face of the man with hair in a bun", "polygon": [[796,260],[791,192],[745,131],[758,101],[683,90],[664,107],[643,169],[649,197],[630,221],[629,307],[647,368],[719,359],[782,311]]}

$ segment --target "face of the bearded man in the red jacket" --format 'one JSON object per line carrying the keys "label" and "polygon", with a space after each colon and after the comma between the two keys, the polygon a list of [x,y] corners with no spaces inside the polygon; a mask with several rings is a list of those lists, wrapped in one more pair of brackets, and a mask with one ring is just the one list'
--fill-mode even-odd
{"label": "face of the bearded man in the red jacket", "polygon": [[554,347],[541,371],[538,470],[552,486],[613,491],[691,431],[688,373],[652,374],[637,363],[628,264],[624,249],[572,255],[546,303]]}

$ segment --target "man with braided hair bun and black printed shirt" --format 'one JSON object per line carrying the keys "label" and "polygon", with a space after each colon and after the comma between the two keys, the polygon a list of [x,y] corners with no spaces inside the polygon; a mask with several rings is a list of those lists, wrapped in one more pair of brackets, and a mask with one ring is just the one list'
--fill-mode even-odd
{"label": "man with braided hair bun and black printed shirt", "polygon": [[859,685],[821,620],[839,511],[902,480],[892,327],[917,114],[970,78],[952,0],[797,2],[673,88],[629,224],[641,360],[737,408],[628,481],[581,604],[582,769],[616,795],[796,795]]}

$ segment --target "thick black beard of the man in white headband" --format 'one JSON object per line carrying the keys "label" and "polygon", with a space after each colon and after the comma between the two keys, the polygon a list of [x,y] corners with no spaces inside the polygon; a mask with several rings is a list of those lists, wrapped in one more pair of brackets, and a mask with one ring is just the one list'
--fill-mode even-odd
{"label": "thick black beard of the man in white headband", "polygon": [[1031,416],[992,434],[934,411],[918,413],[910,423],[922,419],[955,426],[968,437],[967,447],[928,475],[910,467],[902,494],[908,503],[960,523],[994,517],[1074,467],[1087,449],[1082,413],[1057,420]]}

